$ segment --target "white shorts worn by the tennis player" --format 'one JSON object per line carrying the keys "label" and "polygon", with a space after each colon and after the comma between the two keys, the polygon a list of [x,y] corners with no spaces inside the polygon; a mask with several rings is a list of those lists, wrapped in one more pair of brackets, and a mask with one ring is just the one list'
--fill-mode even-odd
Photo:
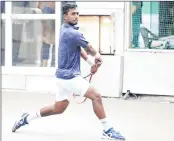
{"label": "white shorts worn by the tennis player", "polygon": [[73,94],[83,97],[90,87],[90,83],[81,76],[72,79],[56,78],[56,101],[69,100]]}

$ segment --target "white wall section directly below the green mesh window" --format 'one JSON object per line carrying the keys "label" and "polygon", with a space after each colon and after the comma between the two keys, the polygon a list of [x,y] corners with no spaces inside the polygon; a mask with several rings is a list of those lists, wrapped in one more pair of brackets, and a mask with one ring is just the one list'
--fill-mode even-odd
{"label": "white wall section directly below the green mesh window", "polygon": [[174,96],[174,52],[125,52],[123,92]]}

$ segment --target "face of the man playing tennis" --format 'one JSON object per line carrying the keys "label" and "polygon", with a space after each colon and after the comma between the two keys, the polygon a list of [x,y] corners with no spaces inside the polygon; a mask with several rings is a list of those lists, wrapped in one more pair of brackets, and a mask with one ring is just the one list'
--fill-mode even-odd
{"label": "face of the man playing tennis", "polygon": [[64,15],[65,21],[71,25],[78,24],[79,12],[77,8],[70,9],[67,14]]}

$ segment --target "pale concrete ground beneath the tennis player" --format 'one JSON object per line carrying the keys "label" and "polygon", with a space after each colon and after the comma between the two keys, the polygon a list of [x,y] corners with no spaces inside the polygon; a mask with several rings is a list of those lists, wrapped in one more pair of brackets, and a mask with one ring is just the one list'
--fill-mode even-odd
{"label": "pale concrete ground beneath the tennis player", "polygon": [[[2,93],[2,141],[102,141],[102,126],[91,102],[72,101],[62,115],[37,119],[16,133],[11,129],[22,112],[52,104],[55,95]],[[103,99],[109,121],[127,141],[174,141],[174,104],[140,100]]]}

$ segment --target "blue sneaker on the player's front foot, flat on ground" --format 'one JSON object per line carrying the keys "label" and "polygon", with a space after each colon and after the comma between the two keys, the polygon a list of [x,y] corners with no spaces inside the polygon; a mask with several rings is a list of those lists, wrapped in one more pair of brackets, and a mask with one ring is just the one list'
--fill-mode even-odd
{"label": "blue sneaker on the player's front foot, flat on ground", "polygon": [[108,131],[103,131],[103,138],[111,139],[111,140],[125,140],[120,132],[114,130],[114,128],[110,128]]}

